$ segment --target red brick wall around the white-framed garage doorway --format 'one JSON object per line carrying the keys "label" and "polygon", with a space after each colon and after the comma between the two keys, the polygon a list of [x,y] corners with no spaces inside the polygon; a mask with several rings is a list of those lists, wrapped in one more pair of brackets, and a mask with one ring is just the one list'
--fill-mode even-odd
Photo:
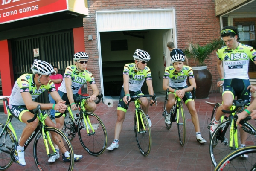
{"label": "red brick wall around the white-framed garage doorway", "polygon": [[[127,9],[163,9],[175,8],[177,26],[177,44],[185,49],[188,41],[204,45],[220,36],[220,20],[215,16],[214,0],[88,0],[89,16],[84,18],[85,49],[90,55],[87,68],[93,73],[96,84],[100,88],[99,54],[96,34],[96,14],[100,10],[127,10]],[[93,35],[88,41],[88,35]],[[213,84],[219,79],[216,67],[217,58],[212,53],[206,61],[208,70],[212,73]],[[192,60],[190,66],[195,66]],[[88,87],[91,93],[90,86]]]}

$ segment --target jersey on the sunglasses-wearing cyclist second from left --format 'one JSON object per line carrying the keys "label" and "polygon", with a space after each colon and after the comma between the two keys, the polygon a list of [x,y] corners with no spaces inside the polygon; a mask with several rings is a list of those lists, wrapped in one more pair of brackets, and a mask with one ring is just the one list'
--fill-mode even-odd
{"label": "jersey on the sunglasses-wearing cyclist second from left", "polygon": [[61,87],[58,90],[67,93],[65,78],[70,78],[72,80],[71,89],[73,94],[78,93],[79,89],[84,85],[84,83],[89,82],[90,84],[96,84],[93,74],[85,70],[84,72],[79,72],[76,69],[76,65],[68,66],[64,73],[64,79],[61,82]]}

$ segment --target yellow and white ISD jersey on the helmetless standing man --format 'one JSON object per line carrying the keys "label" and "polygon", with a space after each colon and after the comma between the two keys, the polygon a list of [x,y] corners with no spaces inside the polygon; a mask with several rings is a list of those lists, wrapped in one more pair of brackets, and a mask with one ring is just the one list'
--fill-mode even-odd
{"label": "yellow and white ISD jersey on the helmetless standing man", "polygon": [[216,52],[219,60],[223,61],[225,79],[249,79],[249,60],[256,61],[256,51],[253,47],[239,43],[236,49],[227,46]]}

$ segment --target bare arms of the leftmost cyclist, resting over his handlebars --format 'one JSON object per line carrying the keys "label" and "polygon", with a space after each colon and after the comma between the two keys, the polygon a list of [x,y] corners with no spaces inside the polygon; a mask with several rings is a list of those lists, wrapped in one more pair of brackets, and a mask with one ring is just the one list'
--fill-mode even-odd
{"label": "bare arms of the leftmost cyclist, resting over his handlebars", "polygon": [[[52,109],[52,107],[53,107],[53,104],[50,104],[50,103],[46,104],[46,103],[38,103],[38,102],[33,101],[29,92],[22,92],[21,96],[22,96],[22,99],[23,99],[23,101],[26,105],[26,108],[28,110],[35,109],[38,106],[38,104],[40,104],[41,110],[48,110],[48,109]],[[54,109],[63,113],[66,110],[66,107],[67,106],[65,104],[63,104],[59,101],[57,104],[55,104]]]}

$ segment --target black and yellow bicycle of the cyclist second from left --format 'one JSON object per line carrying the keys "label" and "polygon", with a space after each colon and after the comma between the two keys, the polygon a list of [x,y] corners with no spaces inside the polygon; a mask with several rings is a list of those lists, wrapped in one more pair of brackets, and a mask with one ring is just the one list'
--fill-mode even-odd
{"label": "black and yellow bicycle of the cyclist second from left", "polygon": [[[103,94],[97,96],[99,99],[96,102],[98,104],[102,99]],[[76,137],[78,133],[79,140],[83,148],[93,156],[99,156],[104,153],[107,148],[107,131],[102,120],[95,113],[87,112],[84,107],[84,102],[89,99],[90,96],[79,96],[75,99],[76,105],[79,106],[79,114],[76,114],[75,119],[70,108],[70,104],[67,105],[67,113],[65,116],[64,127],[62,131],[70,139]],[[104,102],[103,102],[104,104]]]}

